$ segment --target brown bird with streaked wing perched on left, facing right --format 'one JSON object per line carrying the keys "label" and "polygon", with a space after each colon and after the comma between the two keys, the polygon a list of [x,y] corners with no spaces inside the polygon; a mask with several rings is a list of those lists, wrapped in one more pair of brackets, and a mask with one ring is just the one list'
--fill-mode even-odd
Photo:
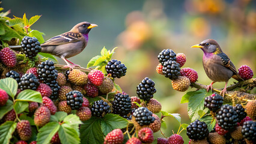
{"label": "brown bird with streaked wing perched on left, facing right", "polygon": [[78,55],[85,49],[88,43],[88,33],[91,28],[96,26],[89,22],[78,23],[69,32],[52,37],[41,44],[41,52],[50,53],[63,59],[67,63],[65,68],[79,66],[67,58]]}

